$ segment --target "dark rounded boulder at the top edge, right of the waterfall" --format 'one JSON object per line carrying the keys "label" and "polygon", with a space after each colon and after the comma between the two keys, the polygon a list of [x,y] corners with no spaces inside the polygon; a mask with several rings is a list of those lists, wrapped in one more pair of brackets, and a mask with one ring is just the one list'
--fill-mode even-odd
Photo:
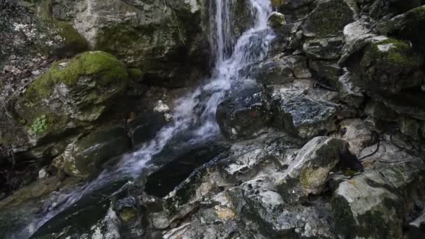
{"label": "dark rounded boulder at the top edge, right of the waterfall", "polygon": [[320,0],[303,22],[305,36],[337,36],[353,21],[354,13],[344,0]]}

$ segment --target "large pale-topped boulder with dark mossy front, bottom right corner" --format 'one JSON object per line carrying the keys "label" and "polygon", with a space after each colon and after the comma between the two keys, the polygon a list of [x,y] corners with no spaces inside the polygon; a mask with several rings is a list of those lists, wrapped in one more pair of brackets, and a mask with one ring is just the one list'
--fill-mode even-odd
{"label": "large pale-topped boulder with dark mossy front, bottom right corner", "polygon": [[[376,150],[363,150],[361,156]],[[410,185],[422,185],[422,159],[381,142],[363,159],[366,173],[341,182],[334,192],[333,213],[338,233],[354,237],[401,238],[403,218],[417,195]],[[422,186],[420,186],[422,187]]]}

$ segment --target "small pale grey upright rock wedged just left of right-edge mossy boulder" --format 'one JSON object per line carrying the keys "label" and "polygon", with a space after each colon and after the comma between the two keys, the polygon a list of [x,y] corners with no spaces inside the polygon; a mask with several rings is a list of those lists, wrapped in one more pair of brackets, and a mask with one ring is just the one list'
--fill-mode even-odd
{"label": "small pale grey upright rock wedged just left of right-edge mossy boulder", "polygon": [[340,99],[350,106],[358,108],[363,103],[364,96],[361,87],[355,85],[353,80],[354,75],[350,71],[345,71],[344,75],[338,78],[336,84]]}

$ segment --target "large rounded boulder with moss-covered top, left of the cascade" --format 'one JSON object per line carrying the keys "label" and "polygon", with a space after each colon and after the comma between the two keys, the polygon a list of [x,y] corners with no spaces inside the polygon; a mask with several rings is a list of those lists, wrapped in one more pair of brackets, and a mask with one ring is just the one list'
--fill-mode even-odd
{"label": "large rounded boulder with moss-covered top, left of the cascade", "polygon": [[[16,106],[37,138],[93,124],[127,87],[121,61],[106,52],[85,52],[58,61],[34,80]],[[34,128],[34,129],[33,129]]]}

